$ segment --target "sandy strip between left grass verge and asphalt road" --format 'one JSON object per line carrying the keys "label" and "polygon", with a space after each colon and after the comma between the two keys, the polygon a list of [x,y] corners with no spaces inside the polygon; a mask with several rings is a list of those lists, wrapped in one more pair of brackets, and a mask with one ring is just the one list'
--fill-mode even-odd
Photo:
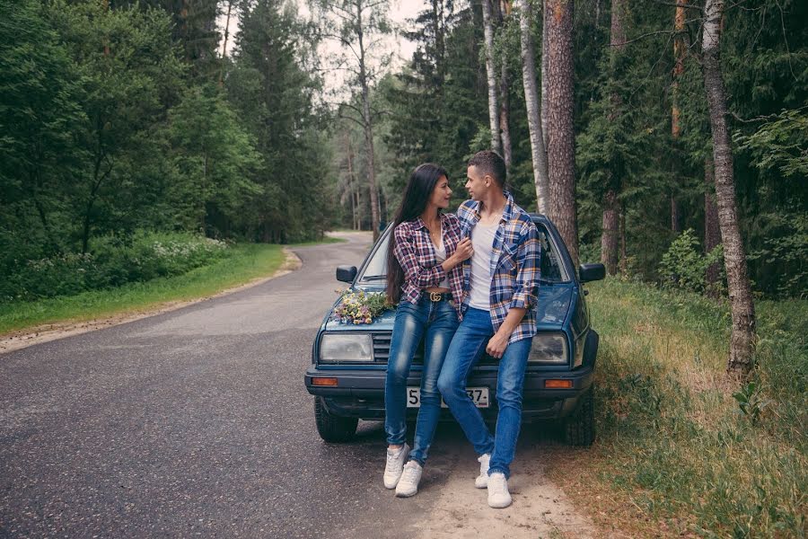
{"label": "sandy strip between left grass verge and asphalt road", "polygon": [[90,331],[101,330],[110,328],[122,323],[135,322],[149,316],[156,314],[170,313],[188,305],[194,305],[213,299],[215,297],[227,296],[244,290],[245,288],[256,287],[260,284],[266,283],[269,280],[284,276],[294,270],[299,270],[303,266],[303,261],[291,249],[284,247],[285,261],[281,267],[275,270],[274,273],[268,277],[254,278],[237,287],[224,288],[210,296],[202,296],[196,299],[187,299],[182,301],[168,301],[159,304],[151,305],[136,311],[123,312],[119,314],[112,314],[110,316],[103,316],[101,318],[93,318],[92,320],[82,321],[65,321],[56,323],[44,323],[26,330],[11,331],[0,335],[0,356],[6,353],[13,352],[14,350],[28,348],[35,344],[49,342],[51,340],[64,339],[73,335],[80,335]]}

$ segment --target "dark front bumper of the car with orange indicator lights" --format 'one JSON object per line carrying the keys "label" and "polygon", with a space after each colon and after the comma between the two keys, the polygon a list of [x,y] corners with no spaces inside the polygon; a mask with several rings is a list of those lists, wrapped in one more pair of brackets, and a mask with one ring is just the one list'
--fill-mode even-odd
{"label": "dark front bumper of the car with orange indicator lights", "polygon": [[[336,378],[336,386],[312,384],[312,378]],[[306,389],[309,393],[323,398],[329,412],[342,417],[362,420],[382,420],[384,418],[384,382],[386,371],[381,369],[359,370],[349,367],[310,367],[305,374]],[[570,380],[569,389],[547,389],[545,382]],[[523,420],[561,420],[575,411],[578,399],[593,383],[593,367],[579,367],[574,371],[541,371],[528,367],[524,377]],[[419,373],[408,377],[407,385],[421,384]],[[496,368],[472,372],[467,383],[469,387],[487,387],[491,406],[480,411],[486,419],[496,418]],[[417,408],[409,408],[408,416],[417,415]],[[452,419],[444,409],[442,419]]]}

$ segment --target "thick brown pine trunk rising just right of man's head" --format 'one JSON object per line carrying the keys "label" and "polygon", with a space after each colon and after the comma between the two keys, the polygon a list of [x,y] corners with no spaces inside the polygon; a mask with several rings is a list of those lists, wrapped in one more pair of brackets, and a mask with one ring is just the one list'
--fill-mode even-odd
{"label": "thick brown pine trunk rising just right of man's head", "polygon": [[547,0],[548,125],[550,219],[558,227],[578,265],[578,228],[575,216],[575,132],[573,130],[573,0]]}

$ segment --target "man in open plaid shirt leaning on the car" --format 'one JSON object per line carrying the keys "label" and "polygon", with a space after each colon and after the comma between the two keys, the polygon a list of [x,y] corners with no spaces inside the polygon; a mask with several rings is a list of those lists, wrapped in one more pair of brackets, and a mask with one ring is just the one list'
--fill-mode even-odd
{"label": "man in open plaid shirt leaning on the car", "polygon": [[[458,209],[462,237],[473,254],[463,268],[462,322],[452,338],[438,389],[477,451],[479,477],[488,505],[511,505],[510,464],[522,423],[522,390],[539,288],[540,243],[531,217],[504,190],[505,162],[495,152],[474,155],[466,189],[470,200]],[[496,434],[491,436],[466,393],[466,378],[485,350],[499,359]]]}

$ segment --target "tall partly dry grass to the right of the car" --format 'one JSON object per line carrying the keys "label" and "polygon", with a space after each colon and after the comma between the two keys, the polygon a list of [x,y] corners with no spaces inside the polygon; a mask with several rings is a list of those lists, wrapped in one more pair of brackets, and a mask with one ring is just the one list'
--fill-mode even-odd
{"label": "tall partly dry grass to the right of the car", "polygon": [[618,279],[590,289],[598,439],[554,448],[550,477],[607,536],[804,537],[808,302],[757,304],[754,420],[725,375],[728,305]]}

